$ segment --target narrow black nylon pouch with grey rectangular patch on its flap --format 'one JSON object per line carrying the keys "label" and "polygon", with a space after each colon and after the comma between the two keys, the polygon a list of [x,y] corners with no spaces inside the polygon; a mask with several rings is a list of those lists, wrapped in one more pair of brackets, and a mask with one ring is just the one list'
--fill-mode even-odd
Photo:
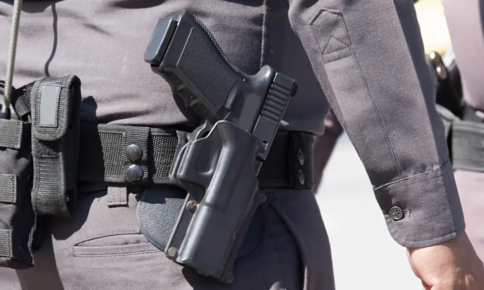
{"label": "narrow black nylon pouch with grey rectangular patch on its flap", "polygon": [[81,81],[74,75],[42,78],[32,87],[30,104],[33,209],[70,218],[77,197]]}

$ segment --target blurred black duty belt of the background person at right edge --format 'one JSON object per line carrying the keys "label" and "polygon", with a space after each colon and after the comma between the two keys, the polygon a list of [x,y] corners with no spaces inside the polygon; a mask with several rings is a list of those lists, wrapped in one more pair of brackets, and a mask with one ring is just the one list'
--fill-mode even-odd
{"label": "blurred black duty belt of the background person at right edge", "polygon": [[444,122],[453,168],[484,172],[484,123],[460,120],[440,105],[437,110]]}

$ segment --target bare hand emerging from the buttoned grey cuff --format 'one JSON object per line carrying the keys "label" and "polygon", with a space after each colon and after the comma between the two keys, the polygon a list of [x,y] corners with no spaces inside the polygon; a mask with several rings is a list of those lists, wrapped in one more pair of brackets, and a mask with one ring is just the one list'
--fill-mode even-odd
{"label": "bare hand emerging from the buttoned grey cuff", "polygon": [[442,244],[407,249],[407,257],[425,290],[484,289],[484,266],[465,231]]}

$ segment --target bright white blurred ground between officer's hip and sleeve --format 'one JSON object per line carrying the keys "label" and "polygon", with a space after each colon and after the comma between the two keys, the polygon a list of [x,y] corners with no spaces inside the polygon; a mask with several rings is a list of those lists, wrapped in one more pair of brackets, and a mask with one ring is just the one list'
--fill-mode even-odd
{"label": "bright white blurred ground between officer's hip and sleeve", "polygon": [[393,241],[370,180],[342,135],[316,195],[328,230],[336,290],[421,289],[405,248]]}

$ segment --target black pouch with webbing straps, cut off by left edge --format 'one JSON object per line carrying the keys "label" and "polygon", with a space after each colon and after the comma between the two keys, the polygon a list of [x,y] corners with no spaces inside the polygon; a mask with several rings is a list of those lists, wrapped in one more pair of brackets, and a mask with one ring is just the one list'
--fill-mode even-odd
{"label": "black pouch with webbing straps, cut off by left edge", "polygon": [[33,266],[30,132],[29,123],[0,120],[0,267]]}

